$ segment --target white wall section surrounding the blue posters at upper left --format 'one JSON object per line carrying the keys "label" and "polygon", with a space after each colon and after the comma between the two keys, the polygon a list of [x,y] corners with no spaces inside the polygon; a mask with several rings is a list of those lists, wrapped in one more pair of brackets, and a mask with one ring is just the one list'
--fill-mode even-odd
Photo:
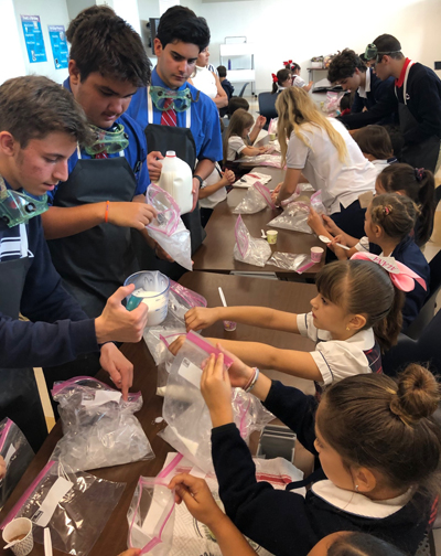
{"label": "white wall section surrounding the blue posters at upper left", "polygon": [[[69,23],[69,17],[67,12],[66,0],[13,0],[13,6],[15,10],[17,29],[20,36],[21,54],[24,62],[24,73],[45,75],[57,83],[62,83],[67,77],[67,68],[55,70],[47,25],[64,25],[65,28],[67,28]],[[21,14],[40,15],[47,62],[30,64],[26,45],[24,43],[23,28],[20,18]],[[1,19],[2,17],[3,13],[1,12]],[[8,49],[8,52],[9,51],[10,49]],[[2,50],[2,64],[3,58],[6,57],[4,52],[6,51]]]}

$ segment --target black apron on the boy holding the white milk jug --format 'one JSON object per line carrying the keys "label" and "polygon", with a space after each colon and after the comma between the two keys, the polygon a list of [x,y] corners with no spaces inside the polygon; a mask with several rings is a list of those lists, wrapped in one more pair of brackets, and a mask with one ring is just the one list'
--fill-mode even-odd
{"label": "black apron on the boy holding the white milk jug", "polygon": [[[149,95],[150,99],[150,95]],[[191,110],[191,108],[189,108]],[[148,106],[149,120],[153,119],[152,107]],[[165,157],[168,150],[175,151],[176,156],[184,160],[193,170],[196,165],[196,146],[194,142],[193,133],[190,129],[191,111],[187,115],[187,127],[170,127],[160,126],[158,124],[149,124],[146,127],[146,139],[148,152],[160,151]],[[192,242],[192,254],[201,246],[206,237],[206,233],[201,224],[201,211],[197,203],[196,209],[182,216],[182,222],[185,227],[190,229],[190,237]],[[135,233],[137,231],[133,231]],[[158,259],[154,253],[142,249],[142,243],[139,234],[133,234],[136,244],[137,257],[142,269],[160,270],[170,278],[179,279],[186,269],[178,265],[178,263],[169,263],[168,260]]]}

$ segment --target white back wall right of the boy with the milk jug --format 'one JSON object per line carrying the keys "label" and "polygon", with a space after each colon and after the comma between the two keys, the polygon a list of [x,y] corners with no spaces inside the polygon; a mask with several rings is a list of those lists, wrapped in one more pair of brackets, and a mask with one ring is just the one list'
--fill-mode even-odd
{"label": "white back wall right of the boy with the milk jug", "polygon": [[[151,2],[138,1],[140,13],[144,12],[144,3]],[[214,65],[219,64],[219,44],[225,36],[246,35],[248,42],[256,44],[258,92],[270,89],[271,73],[288,58],[302,66],[306,79],[311,56],[346,46],[364,52],[367,43],[385,32],[396,35],[404,53],[415,61],[433,68],[433,62],[441,60],[440,0],[370,0],[368,4],[330,4],[329,0],[189,0],[187,4],[208,22]],[[324,72],[315,74],[315,79],[322,77]]]}

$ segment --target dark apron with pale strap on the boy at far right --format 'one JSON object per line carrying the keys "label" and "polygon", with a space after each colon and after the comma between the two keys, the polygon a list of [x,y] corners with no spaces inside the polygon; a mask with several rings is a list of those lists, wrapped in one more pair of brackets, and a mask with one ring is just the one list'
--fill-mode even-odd
{"label": "dark apron with pale strap on the boy at far right", "polygon": [[[409,76],[409,71],[413,62],[410,62],[406,68],[405,82],[402,85],[402,98],[405,104],[398,104],[398,115],[400,121],[401,133],[413,130],[419,126],[417,119],[413,117],[412,113],[407,106],[407,79]],[[397,87],[395,87],[395,94],[397,95]],[[413,168],[426,168],[434,173],[437,168],[438,158],[440,156],[441,140],[437,136],[429,137],[419,143],[406,145],[401,149],[400,162],[406,162]]]}

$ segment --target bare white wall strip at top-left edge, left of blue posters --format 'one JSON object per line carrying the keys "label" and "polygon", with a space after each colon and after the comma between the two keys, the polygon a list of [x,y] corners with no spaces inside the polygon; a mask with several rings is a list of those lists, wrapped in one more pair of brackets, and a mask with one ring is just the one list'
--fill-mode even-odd
{"label": "bare white wall strip at top-left edge, left of blue posters", "polygon": [[0,0],[0,84],[25,74],[12,0]]}

